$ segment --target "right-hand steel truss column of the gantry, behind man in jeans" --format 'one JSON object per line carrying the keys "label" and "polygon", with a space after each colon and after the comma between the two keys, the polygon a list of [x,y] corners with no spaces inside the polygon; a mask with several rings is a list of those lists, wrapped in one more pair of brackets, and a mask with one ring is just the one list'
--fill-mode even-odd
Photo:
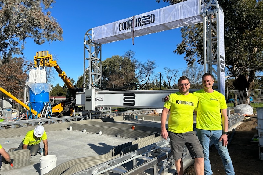
{"label": "right-hand steel truss column of the gantry, behind man in jeans", "polygon": [[203,16],[203,32],[204,32],[204,73],[208,72],[216,75],[217,82],[214,83],[220,89],[220,53],[219,53],[219,4],[216,0],[210,0],[206,4],[203,0],[201,14]]}

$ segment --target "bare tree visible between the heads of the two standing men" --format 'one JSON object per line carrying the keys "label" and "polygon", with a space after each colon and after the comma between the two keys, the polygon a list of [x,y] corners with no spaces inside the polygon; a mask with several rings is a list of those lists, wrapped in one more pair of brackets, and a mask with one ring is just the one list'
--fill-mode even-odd
{"label": "bare tree visible between the heads of the two standing men", "polygon": [[191,86],[190,89],[202,89],[202,76],[204,74],[204,68],[196,63],[193,66],[188,67],[186,70],[182,71],[182,75],[189,78]]}

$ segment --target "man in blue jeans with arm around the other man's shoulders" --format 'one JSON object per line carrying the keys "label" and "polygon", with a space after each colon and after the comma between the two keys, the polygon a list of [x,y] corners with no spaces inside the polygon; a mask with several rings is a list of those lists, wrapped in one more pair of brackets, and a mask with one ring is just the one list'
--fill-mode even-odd
{"label": "man in blue jeans with arm around the other man's shoulders", "polygon": [[[227,175],[235,175],[232,160],[227,149],[228,117],[225,96],[213,89],[214,76],[205,73],[202,76],[204,89],[196,91],[193,95],[199,99],[196,117],[197,136],[203,146],[204,174],[213,174],[209,161],[210,140],[214,142],[222,159]],[[170,97],[171,98],[171,97]],[[165,97],[165,101],[169,97]]]}

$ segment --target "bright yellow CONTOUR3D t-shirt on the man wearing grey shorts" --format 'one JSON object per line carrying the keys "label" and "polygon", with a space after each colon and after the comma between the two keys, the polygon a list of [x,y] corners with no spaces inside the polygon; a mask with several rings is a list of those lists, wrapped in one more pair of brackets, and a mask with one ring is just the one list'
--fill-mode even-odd
{"label": "bright yellow CONTOUR3D t-shirt on the man wearing grey shorts", "polygon": [[185,133],[193,131],[193,110],[196,110],[198,98],[193,94],[172,93],[164,107],[170,109],[168,131]]}

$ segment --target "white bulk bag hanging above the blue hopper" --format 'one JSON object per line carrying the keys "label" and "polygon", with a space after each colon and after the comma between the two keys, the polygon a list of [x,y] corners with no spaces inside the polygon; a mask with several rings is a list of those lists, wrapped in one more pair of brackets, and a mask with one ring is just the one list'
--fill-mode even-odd
{"label": "white bulk bag hanging above the blue hopper", "polygon": [[46,70],[40,67],[31,69],[28,76],[29,83],[46,83]]}

